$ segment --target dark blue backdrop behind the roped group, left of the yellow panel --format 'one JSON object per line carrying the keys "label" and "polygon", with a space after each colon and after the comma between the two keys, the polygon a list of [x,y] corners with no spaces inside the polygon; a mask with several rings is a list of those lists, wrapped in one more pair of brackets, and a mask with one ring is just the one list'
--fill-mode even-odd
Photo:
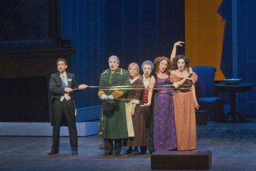
{"label": "dark blue backdrop behind the roped group, left of the yellow panel", "polygon": [[[71,39],[76,49],[72,72],[78,83],[89,86],[98,86],[111,55],[127,69],[131,62],[140,66],[144,60],[169,57],[174,42],[185,41],[181,0],[61,0],[60,7],[62,38]],[[96,88],[75,97],[77,108],[101,105]]]}

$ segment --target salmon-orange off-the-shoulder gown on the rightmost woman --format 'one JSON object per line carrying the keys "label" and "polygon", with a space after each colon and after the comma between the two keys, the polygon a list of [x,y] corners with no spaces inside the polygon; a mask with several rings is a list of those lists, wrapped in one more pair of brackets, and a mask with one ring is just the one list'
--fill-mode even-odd
{"label": "salmon-orange off-the-shoulder gown on the rightmost woman", "polygon": [[[197,76],[191,76],[193,82],[197,81]],[[170,74],[171,82],[178,82],[182,77]],[[193,84],[186,80],[183,85]],[[174,116],[177,135],[178,151],[190,151],[197,149],[197,127],[196,112],[193,93],[189,90],[191,86],[180,86],[174,94]]]}

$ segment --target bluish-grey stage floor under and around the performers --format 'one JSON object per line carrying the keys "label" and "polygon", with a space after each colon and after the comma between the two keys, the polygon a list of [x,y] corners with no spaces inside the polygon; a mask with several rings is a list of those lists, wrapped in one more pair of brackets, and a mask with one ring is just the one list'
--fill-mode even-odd
{"label": "bluish-grey stage floor under and around the performers", "polygon": [[[197,126],[197,145],[212,151],[209,170],[256,170],[256,119],[243,123],[208,122]],[[151,155],[102,156],[96,135],[78,138],[72,156],[68,137],[60,154],[48,156],[51,137],[0,137],[0,170],[151,170]],[[125,151],[123,147],[122,151]]]}

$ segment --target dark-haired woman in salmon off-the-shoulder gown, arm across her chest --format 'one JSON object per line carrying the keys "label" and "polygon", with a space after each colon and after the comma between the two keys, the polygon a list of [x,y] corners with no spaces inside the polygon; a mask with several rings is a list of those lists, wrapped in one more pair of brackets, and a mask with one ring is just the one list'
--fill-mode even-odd
{"label": "dark-haired woman in salmon off-the-shoulder gown, arm across her chest", "polygon": [[[173,55],[173,54],[172,54]],[[174,115],[178,151],[197,149],[196,112],[199,108],[195,92],[197,75],[189,67],[189,58],[178,55],[173,58],[170,82],[173,82]]]}

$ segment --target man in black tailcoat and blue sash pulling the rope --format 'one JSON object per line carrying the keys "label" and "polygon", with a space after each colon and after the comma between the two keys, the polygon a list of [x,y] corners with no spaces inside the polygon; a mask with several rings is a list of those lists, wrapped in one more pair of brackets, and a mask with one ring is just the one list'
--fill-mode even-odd
{"label": "man in black tailcoat and blue sash pulling the rope", "polygon": [[[48,155],[59,153],[59,131],[60,126],[67,126],[69,129],[70,145],[72,155],[77,155],[77,130],[75,118],[75,103],[72,92],[86,89],[86,84],[77,86],[75,75],[66,72],[68,62],[59,58],[56,62],[58,72],[51,75],[50,92],[52,96],[52,149]],[[63,124],[63,122],[66,124]]]}

